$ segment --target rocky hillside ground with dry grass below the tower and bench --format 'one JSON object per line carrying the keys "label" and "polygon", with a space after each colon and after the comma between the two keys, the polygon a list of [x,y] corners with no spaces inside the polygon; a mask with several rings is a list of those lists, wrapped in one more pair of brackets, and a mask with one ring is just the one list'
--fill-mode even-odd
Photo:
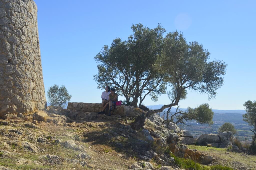
{"label": "rocky hillside ground with dry grass below the tower and bench", "polygon": [[[161,128],[157,118],[147,119],[145,129],[135,131],[132,118],[120,115],[93,114],[93,120],[78,121],[56,113],[0,119],[0,169],[180,169],[166,166],[173,160],[164,153],[164,146],[176,144],[178,135]],[[185,145],[180,148],[178,154],[184,150],[189,156]],[[208,158],[211,153],[200,155]]]}

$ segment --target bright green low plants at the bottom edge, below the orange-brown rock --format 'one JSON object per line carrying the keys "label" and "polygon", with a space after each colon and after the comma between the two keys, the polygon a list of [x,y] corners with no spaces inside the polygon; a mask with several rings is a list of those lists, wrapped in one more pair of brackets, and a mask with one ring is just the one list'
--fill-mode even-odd
{"label": "bright green low plants at the bottom edge, below the orange-brown rock", "polygon": [[175,156],[173,153],[170,153],[170,157],[174,158],[174,164],[179,166],[180,168],[189,169],[189,170],[233,170],[230,167],[222,166],[222,165],[211,165],[206,166],[200,163],[197,163],[191,159],[185,159],[181,157]]}

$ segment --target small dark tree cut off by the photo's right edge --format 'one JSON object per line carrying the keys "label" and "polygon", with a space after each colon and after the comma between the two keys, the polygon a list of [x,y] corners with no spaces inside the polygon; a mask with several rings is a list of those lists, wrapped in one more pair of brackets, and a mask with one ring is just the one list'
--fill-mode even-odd
{"label": "small dark tree cut off by the photo's right edge", "polygon": [[243,120],[249,123],[250,130],[254,133],[252,139],[252,146],[254,146],[256,138],[256,101],[248,100],[243,104],[243,106],[246,111],[246,114],[243,115]]}

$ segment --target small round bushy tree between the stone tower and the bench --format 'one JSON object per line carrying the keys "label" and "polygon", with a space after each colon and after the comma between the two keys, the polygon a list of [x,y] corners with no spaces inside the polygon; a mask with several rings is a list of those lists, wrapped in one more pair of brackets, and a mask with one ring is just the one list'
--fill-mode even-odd
{"label": "small round bushy tree between the stone tower and the bench", "polygon": [[58,85],[53,85],[48,89],[48,102],[51,106],[65,107],[66,103],[71,99],[68,90],[64,85],[59,87]]}

